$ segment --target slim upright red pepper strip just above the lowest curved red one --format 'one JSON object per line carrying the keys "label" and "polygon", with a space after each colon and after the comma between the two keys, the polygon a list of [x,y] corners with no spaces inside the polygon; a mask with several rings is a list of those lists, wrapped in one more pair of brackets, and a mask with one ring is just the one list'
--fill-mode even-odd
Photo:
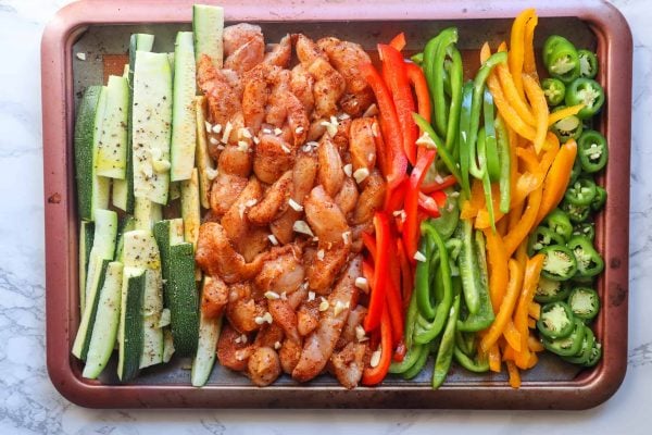
{"label": "slim upright red pepper strip just above the lowest curved red one", "polygon": [[369,306],[367,315],[364,318],[363,326],[368,333],[380,324],[385,299],[387,298],[387,271],[389,268],[389,241],[391,233],[389,229],[389,219],[384,212],[374,214],[374,227],[376,229],[376,261],[374,263],[374,281],[372,283],[372,293],[369,296]]}

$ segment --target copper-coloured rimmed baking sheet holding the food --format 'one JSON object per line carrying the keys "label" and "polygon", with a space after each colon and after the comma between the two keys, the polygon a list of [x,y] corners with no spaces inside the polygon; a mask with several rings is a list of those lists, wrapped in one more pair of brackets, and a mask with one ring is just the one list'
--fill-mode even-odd
{"label": "copper-coloured rimmed baking sheet holding the food", "polygon": [[[105,75],[108,60],[127,51],[134,32],[156,35],[154,49],[172,51],[174,35],[190,28],[191,0],[86,0],[62,9],[42,39],[43,174],[46,209],[47,364],[57,389],[71,401],[92,408],[477,408],[584,409],[609,399],[620,385],[627,366],[628,211],[631,105],[631,34],[625,18],[601,1],[530,1],[540,16],[536,45],[560,33],[581,47],[598,51],[599,80],[605,85],[607,107],[600,128],[610,146],[603,176],[609,192],[597,224],[597,240],[605,258],[598,282],[603,308],[597,321],[603,361],[578,371],[555,357],[524,373],[523,386],[512,389],[504,374],[474,375],[453,368],[438,390],[429,374],[412,382],[388,378],[380,387],[346,390],[331,377],[299,385],[281,378],[266,388],[216,366],[203,388],[190,386],[187,362],[143,371],[134,384],[121,385],[105,371],[99,381],[82,377],[80,363],[71,356],[78,324],[77,215],[72,153],[75,103],[89,84]],[[460,47],[471,52],[489,40],[493,47],[509,38],[518,1],[347,1],[291,2],[262,0],[255,5],[222,1],[226,21],[255,22],[269,41],[287,32],[336,35],[375,44],[405,32],[410,50],[418,50],[438,30],[456,25]],[[82,61],[74,54],[84,51]],[[471,59],[469,55],[466,58]],[[475,57],[474,57],[475,58]],[[124,59],[124,58],[122,58]],[[613,110],[611,108],[614,108]]]}

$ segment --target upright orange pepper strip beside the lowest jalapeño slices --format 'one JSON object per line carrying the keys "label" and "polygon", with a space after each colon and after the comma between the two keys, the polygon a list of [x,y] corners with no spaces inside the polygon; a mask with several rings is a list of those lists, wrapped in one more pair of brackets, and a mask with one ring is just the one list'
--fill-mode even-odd
{"label": "upright orange pepper strip beside the lowest jalape\u00f1o slices", "polygon": [[521,351],[516,355],[516,365],[521,369],[528,368],[529,361],[529,348],[527,346],[527,339],[529,337],[528,330],[528,307],[532,303],[535,291],[537,290],[537,284],[539,283],[539,275],[543,268],[543,256],[536,254],[527,261],[525,268],[525,274],[523,278],[523,289],[521,290],[521,297],[518,298],[518,304],[514,312],[514,326],[521,333]]}

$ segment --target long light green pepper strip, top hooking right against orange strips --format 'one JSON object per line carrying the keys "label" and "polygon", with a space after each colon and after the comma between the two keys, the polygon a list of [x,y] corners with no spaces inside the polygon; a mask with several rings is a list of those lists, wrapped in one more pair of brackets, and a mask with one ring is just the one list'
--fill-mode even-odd
{"label": "long light green pepper strip, top hooking right against orange strips", "polygon": [[482,178],[484,171],[486,167],[479,167],[478,161],[476,159],[476,140],[478,138],[478,133],[480,128],[480,111],[484,104],[484,96],[485,96],[485,83],[487,82],[487,77],[489,74],[500,63],[505,63],[507,61],[507,52],[499,51],[497,53],[491,54],[489,59],[487,59],[480,70],[475,76],[473,82],[473,99],[471,103],[471,127],[468,132],[468,160],[469,165],[468,170],[471,174],[478,178]]}

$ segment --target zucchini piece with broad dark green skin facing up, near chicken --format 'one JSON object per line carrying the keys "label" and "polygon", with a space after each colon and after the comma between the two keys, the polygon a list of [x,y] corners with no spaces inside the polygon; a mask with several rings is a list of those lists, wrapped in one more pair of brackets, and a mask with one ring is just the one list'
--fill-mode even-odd
{"label": "zucchini piece with broad dark green skin facing up, near chicken", "polygon": [[195,250],[184,241],[184,221],[174,219],[154,225],[161,247],[165,304],[171,311],[174,347],[181,357],[197,350],[199,297],[195,284]]}

